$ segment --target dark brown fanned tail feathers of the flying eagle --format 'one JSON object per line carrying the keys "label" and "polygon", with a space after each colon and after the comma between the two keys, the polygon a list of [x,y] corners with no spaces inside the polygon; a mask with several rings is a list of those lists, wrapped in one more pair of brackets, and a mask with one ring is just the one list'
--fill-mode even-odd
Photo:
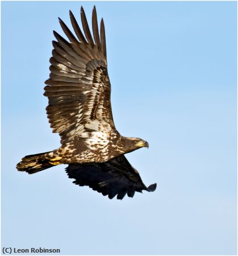
{"label": "dark brown fanned tail feathers of the flying eagle", "polygon": [[51,153],[53,152],[49,151],[35,155],[27,155],[22,158],[21,162],[16,164],[16,169],[21,172],[27,172],[28,174],[35,174],[36,172],[56,166],[56,163],[52,163],[51,159],[47,158],[47,156],[52,155]]}

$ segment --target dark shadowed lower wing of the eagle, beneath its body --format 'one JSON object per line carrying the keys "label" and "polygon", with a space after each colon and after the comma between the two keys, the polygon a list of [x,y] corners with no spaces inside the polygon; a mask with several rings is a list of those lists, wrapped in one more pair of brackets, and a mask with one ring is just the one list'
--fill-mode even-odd
{"label": "dark shadowed lower wing of the eagle, beneath its body", "polygon": [[87,185],[95,191],[108,195],[112,199],[123,199],[126,195],[133,197],[135,191],[155,191],[156,183],[146,187],[124,155],[120,155],[103,163],[69,164],[66,172],[73,183]]}

